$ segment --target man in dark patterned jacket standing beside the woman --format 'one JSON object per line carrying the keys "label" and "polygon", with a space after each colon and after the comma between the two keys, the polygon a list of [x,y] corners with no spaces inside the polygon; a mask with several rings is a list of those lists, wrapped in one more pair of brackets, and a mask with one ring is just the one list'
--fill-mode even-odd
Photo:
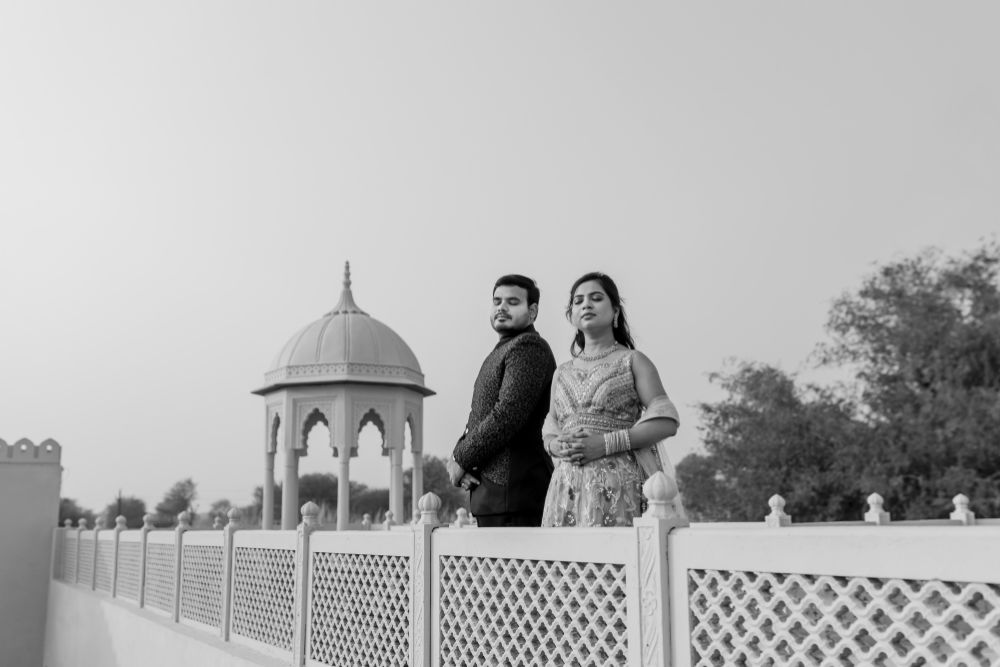
{"label": "man in dark patterned jacket standing beside the woman", "polygon": [[490,323],[500,341],[486,357],[472,394],[465,434],[448,472],[470,491],[482,527],[538,526],[552,460],[542,447],[542,423],[556,360],[535,331],[539,290],[521,275],[493,286]]}

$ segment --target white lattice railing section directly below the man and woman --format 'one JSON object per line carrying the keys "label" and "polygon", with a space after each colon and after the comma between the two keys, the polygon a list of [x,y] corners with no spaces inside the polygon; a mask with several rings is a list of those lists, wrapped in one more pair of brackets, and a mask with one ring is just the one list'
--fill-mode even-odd
{"label": "white lattice railing section directly below the man and woman", "polygon": [[639,664],[638,544],[623,533],[441,531],[433,653],[445,665]]}

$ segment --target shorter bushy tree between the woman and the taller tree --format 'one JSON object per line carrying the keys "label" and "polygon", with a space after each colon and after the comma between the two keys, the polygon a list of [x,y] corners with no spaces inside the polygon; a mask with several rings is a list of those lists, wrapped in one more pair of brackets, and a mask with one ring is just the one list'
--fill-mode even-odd
{"label": "shorter bushy tree between the woman and the taller tree", "polygon": [[692,518],[758,521],[775,493],[799,521],[859,516],[864,503],[851,462],[860,425],[849,403],[796,387],[771,366],[743,363],[713,380],[728,397],[699,406],[708,454],[677,466]]}

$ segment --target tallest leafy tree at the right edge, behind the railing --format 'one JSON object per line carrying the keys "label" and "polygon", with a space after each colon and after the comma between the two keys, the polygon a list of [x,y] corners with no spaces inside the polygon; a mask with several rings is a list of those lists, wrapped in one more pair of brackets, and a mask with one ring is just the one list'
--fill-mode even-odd
{"label": "tallest leafy tree at the right edge, behind the railing", "polygon": [[945,516],[962,492],[1000,514],[1000,246],[888,264],[833,306],[828,365],[856,369],[870,428],[859,471],[895,516]]}

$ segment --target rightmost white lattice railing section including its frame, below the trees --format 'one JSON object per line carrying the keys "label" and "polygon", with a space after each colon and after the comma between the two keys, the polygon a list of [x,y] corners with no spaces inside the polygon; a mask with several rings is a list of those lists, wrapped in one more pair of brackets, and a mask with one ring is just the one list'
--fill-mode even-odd
{"label": "rightmost white lattice railing section including its frame, below the trees", "polygon": [[1000,527],[680,529],[675,665],[1000,665]]}

